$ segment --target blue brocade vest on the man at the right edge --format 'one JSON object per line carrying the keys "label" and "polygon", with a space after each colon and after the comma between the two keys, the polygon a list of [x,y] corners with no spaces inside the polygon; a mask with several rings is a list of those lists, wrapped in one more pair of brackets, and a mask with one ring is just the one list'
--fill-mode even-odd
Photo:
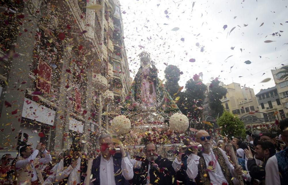
{"label": "blue brocade vest on the man at the right edge", "polygon": [[288,179],[288,148],[275,154],[278,163],[281,185],[287,184]]}

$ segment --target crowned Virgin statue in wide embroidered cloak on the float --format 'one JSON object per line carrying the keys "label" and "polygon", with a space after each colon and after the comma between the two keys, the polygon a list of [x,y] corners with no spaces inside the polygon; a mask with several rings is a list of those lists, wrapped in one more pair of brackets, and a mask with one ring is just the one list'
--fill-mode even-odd
{"label": "crowned Virgin statue in wide embroidered cloak on the float", "polygon": [[141,67],[135,75],[120,113],[128,116],[132,122],[168,122],[170,116],[181,112],[158,78],[150,54],[144,51],[139,57]]}

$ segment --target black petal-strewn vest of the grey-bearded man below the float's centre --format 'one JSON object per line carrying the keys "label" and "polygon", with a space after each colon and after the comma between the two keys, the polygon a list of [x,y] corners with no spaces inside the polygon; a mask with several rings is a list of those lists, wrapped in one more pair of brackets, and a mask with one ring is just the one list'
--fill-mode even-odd
{"label": "black petal-strewn vest of the grey-bearded man below the float's centre", "polygon": [[[141,169],[134,169],[133,185],[145,185],[147,183],[149,161],[146,158],[136,158],[137,161],[142,161]],[[176,184],[176,173],[172,167],[172,161],[167,158],[158,157],[154,163],[158,165],[157,169],[150,165],[150,184]]]}

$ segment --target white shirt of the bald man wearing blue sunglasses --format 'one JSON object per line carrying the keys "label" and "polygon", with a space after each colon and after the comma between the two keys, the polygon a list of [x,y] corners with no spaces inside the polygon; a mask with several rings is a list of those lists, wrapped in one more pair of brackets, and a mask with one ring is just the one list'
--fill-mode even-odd
{"label": "white shirt of the bald man wearing blue sunglasses", "polygon": [[[225,152],[221,148],[219,148],[219,150],[221,151],[221,153],[225,159],[225,163],[226,163],[230,173],[232,174],[233,177],[236,177],[236,174],[234,172],[234,167],[230,163],[227,155],[225,154]],[[222,169],[221,169],[218,161],[215,161],[216,157],[215,157],[215,154],[214,154],[212,148],[211,148],[211,151],[209,154],[205,154],[203,152],[202,156],[205,159],[207,167],[209,166],[210,161],[213,161],[214,164],[216,164],[215,169],[214,169],[215,171],[208,171],[211,184],[222,184],[223,182],[228,184],[224,174],[222,173]],[[190,154],[190,156],[187,159],[187,171],[186,171],[186,173],[190,179],[195,179],[196,176],[198,175],[199,159],[200,159],[200,157],[195,155],[195,154]]]}

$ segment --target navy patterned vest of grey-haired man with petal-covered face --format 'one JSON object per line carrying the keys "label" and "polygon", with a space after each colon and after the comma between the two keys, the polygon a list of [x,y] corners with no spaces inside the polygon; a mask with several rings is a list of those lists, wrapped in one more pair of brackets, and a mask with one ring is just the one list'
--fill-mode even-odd
{"label": "navy patterned vest of grey-haired man with petal-covered face", "polygon": [[[121,169],[122,156],[120,155],[115,154],[113,156],[115,184],[116,185],[129,185],[128,180],[126,180],[124,176],[122,175],[122,169]],[[100,184],[100,170],[101,170],[100,163],[101,163],[100,155],[92,161],[91,174],[93,175],[92,179],[95,179],[93,181],[94,185]]]}

